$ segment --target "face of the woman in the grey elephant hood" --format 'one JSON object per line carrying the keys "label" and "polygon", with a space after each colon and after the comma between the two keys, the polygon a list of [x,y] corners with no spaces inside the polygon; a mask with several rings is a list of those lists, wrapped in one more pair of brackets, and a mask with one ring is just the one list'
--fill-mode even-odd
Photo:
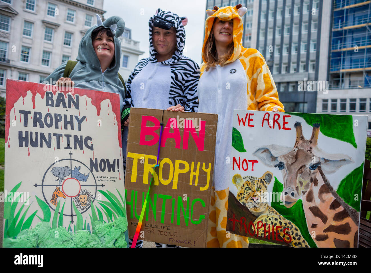
{"label": "face of the woman in the grey elephant hood", "polygon": [[112,62],[115,56],[114,37],[107,36],[106,31],[101,31],[92,41],[93,48],[99,62],[102,60]]}

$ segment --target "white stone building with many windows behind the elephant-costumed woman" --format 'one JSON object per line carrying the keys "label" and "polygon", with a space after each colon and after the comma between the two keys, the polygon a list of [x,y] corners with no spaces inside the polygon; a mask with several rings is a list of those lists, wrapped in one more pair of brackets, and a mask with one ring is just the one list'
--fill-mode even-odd
{"label": "white stone building with many windows behind the elephant-costumed woman", "polygon": [[[41,82],[63,61],[76,60],[79,42],[96,24],[95,14],[103,17],[102,8],[103,0],[1,0],[0,95],[5,96],[6,78]],[[120,73],[127,80],[143,52],[130,31],[125,33],[126,67],[121,64]]]}

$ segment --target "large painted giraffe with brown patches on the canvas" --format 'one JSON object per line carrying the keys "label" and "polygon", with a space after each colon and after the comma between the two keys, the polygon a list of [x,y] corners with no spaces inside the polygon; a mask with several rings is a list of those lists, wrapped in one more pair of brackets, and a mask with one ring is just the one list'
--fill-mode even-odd
{"label": "large painted giraffe with brown patches on the canvas", "polygon": [[305,139],[301,122],[295,122],[296,142],[286,154],[275,156],[282,147],[260,147],[254,155],[269,167],[282,171],[280,199],[292,207],[302,198],[306,223],[318,247],[357,247],[359,213],[342,200],[325,174],[354,162],[344,154],[327,154],[317,146],[319,124]]}

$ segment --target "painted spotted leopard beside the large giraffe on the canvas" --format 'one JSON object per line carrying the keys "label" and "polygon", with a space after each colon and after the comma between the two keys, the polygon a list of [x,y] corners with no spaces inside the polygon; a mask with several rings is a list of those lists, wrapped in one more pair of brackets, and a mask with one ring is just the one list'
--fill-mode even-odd
{"label": "painted spotted leopard beside the large giraffe on the canvas", "polygon": [[[241,177],[239,174],[233,175],[232,181],[237,187],[237,200],[257,217],[254,221],[254,226],[255,230],[258,230],[259,236],[264,237],[264,228],[261,227],[263,225],[262,223],[266,224],[266,227],[268,227],[268,225],[273,225],[274,227],[280,226],[282,227],[279,230],[280,236],[285,238],[286,242],[291,246],[309,247],[300,233],[299,228],[280,215],[266,202],[267,184],[272,181],[272,178],[272,172],[268,171],[260,178],[253,176]],[[258,228],[259,221],[262,221],[259,226],[260,228]],[[284,231],[285,228],[289,228],[289,230]],[[287,234],[290,234],[290,236]]]}

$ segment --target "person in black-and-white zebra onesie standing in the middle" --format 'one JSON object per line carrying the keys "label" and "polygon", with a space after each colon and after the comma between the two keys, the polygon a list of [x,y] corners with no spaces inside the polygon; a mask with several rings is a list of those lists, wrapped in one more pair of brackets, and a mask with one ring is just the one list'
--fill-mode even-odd
{"label": "person in black-and-white zebra onesie standing in the middle", "polygon": [[[187,18],[161,9],[150,18],[150,57],[137,63],[126,83],[127,96],[122,111],[125,126],[129,125],[131,107],[197,112],[200,68],[194,60],[183,56],[185,24]],[[125,141],[127,129],[124,128]],[[126,145],[123,149],[126,155]],[[143,241],[138,240],[136,247],[142,244]],[[156,247],[163,246],[156,243]]]}

